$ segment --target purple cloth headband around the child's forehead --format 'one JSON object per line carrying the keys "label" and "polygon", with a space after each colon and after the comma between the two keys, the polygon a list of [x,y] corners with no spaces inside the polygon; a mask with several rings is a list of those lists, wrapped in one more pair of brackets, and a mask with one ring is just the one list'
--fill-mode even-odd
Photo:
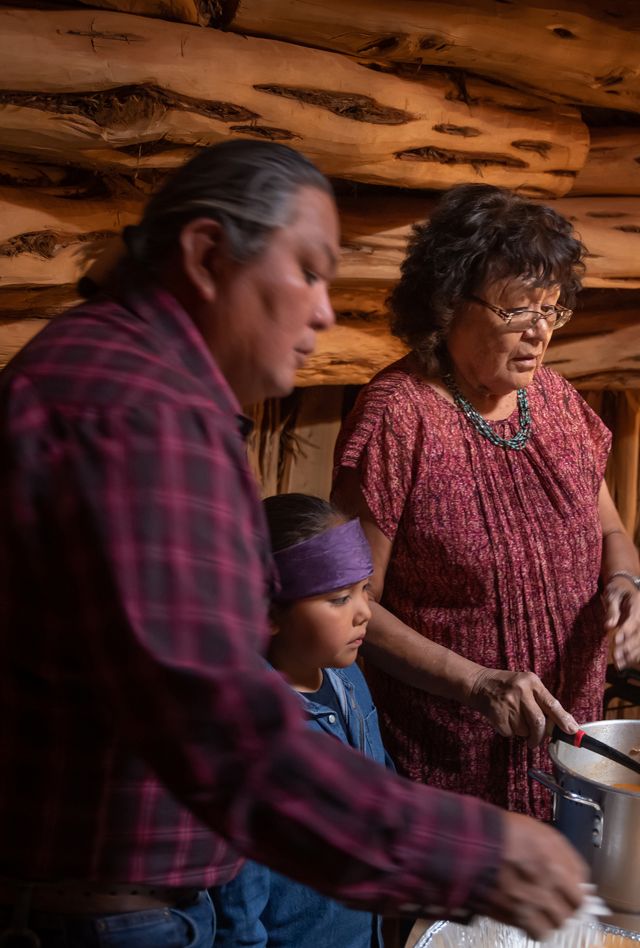
{"label": "purple cloth headband around the child's forehead", "polygon": [[371,550],[359,520],[331,527],[274,553],[280,579],[275,602],[293,602],[353,586],[373,573]]}

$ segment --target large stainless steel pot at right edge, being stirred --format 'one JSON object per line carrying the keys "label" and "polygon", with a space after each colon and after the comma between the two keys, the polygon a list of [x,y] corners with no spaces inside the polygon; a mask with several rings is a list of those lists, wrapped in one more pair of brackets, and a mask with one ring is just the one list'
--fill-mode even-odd
{"label": "large stainless steel pot at right edge, being stirred", "polygon": [[[583,730],[628,754],[640,748],[640,721],[595,721]],[[529,775],[554,794],[553,822],[591,866],[598,892],[621,912],[640,912],[640,793],[612,784],[640,777],[591,751],[551,744],[553,775]]]}

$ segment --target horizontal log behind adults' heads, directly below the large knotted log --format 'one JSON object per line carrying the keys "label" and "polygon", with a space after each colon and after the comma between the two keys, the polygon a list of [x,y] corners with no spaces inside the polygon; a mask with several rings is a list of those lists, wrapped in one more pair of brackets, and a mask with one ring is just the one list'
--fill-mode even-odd
{"label": "horizontal log behind adults' heads, directly below the large knotted log", "polygon": [[[0,188],[0,290],[72,287],[113,235],[138,220],[143,203],[133,193],[75,200]],[[339,312],[380,311],[399,277],[411,226],[433,204],[394,192],[341,199],[343,245],[333,291]],[[585,286],[640,287],[640,198],[563,198],[554,206],[588,248]],[[16,304],[14,297],[10,305]],[[0,314],[2,307],[0,296]]]}

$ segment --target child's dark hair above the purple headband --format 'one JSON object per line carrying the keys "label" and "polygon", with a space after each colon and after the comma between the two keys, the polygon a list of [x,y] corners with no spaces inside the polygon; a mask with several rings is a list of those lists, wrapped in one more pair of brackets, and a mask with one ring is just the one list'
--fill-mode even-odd
{"label": "child's dark hair above the purple headband", "polygon": [[347,519],[328,500],[311,494],[276,494],[262,503],[274,553],[324,533]]}

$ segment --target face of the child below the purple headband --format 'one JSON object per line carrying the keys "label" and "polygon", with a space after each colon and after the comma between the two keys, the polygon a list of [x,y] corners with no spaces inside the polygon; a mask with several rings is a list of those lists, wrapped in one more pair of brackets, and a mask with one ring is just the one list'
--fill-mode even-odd
{"label": "face of the child below the purple headband", "polygon": [[294,688],[315,691],[321,669],[353,664],[370,618],[368,578],[299,599],[274,614],[269,658]]}

